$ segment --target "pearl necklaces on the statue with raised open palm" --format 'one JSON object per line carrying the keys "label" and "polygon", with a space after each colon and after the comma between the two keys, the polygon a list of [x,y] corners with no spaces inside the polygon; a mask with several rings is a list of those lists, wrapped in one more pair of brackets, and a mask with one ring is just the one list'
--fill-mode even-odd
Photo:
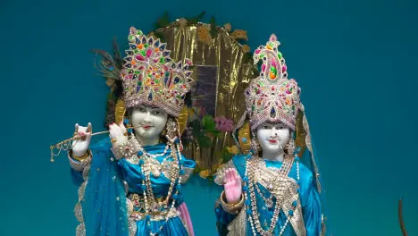
{"label": "pearl necklaces on the statue with raised open palm", "polygon": [[[255,173],[257,171],[256,170],[257,166],[255,166],[254,162],[252,161],[252,159],[254,159],[252,157],[253,157],[253,155],[251,155],[251,154],[247,155],[246,173],[245,173],[245,177],[244,177],[244,187],[243,187],[247,217],[248,217],[248,221],[251,225],[251,230],[252,230],[252,232],[255,236],[257,235],[257,232],[259,234],[261,234],[262,236],[269,236],[269,235],[272,235],[272,233],[274,232],[274,229],[276,228],[276,225],[279,221],[279,214],[280,214],[281,207],[279,205],[279,199],[276,199],[276,203],[274,204],[274,212],[273,212],[273,215],[272,215],[272,221],[270,223],[270,227],[268,229],[264,230],[263,227],[261,226],[259,213],[258,213],[258,210],[257,210],[255,190],[258,191],[258,193],[260,194],[260,196],[262,196],[264,201],[270,200],[270,198],[265,199],[263,197],[263,194],[261,194],[261,191],[259,190],[259,188],[257,186],[257,179],[255,178]],[[256,156],[256,157],[258,157],[258,156]],[[296,164],[297,164],[297,183],[299,183],[299,181],[300,181],[299,157],[297,155],[295,155],[295,158],[293,158],[293,156],[288,156],[288,158],[285,158],[285,161],[280,166],[279,174],[280,174],[281,177],[287,177],[288,172],[290,171],[289,168],[292,167],[292,164],[293,164],[294,160],[296,161]],[[265,164],[264,161],[263,161],[263,163]],[[287,166],[289,166],[289,168],[287,168]],[[282,182],[282,181],[279,180],[279,184],[280,184],[280,182]],[[277,187],[277,186],[275,186],[275,187]],[[249,198],[248,198],[248,195],[249,195]],[[271,195],[271,198],[272,198],[272,195]],[[270,202],[267,201],[267,202],[265,202],[265,204],[266,204],[266,206],[269,207]],[[292,205],[294,207],[296,207],[297,206],[297,201],[294,201]],[[269,207],[269,208],[271,208],[271,207]],[[255,212],[255,214],[253,214],[253,211]],[[293,216],[293,209],[288,211],[286,222],[282,226],[280,226],[280,234],[279,234],[280,236],[285,231],[285,229],[288,225],[288,222],[289,222],[289,220],[292,216]]]}

